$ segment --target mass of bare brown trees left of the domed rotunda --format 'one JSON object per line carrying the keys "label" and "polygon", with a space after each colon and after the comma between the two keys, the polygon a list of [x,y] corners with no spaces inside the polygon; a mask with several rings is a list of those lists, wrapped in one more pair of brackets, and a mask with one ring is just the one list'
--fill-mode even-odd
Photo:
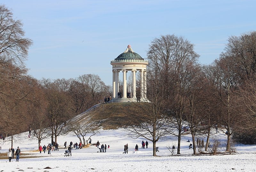
{"label": "mass of bare brown trees left of the domed rotunda", "polygon": [[110,96],[110,89],[95,74],[54,80],[29,76],[24,62],[33,42],[22,26],[0,5],[0,133],[13,142],[16,134],[32,130],[39,144],[49,135],[57,142],[66,121]]}

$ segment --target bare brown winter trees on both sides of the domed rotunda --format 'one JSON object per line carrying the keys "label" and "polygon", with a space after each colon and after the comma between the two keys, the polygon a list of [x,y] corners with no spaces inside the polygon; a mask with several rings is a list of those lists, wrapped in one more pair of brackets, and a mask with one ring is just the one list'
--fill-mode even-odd
{"label": "bare brown winter trees on both sides of the domed rotunda", "polygon": [[[19,139],[14,135],[31,129],[38,144],[49,135],[53,143],[67,133],[69,119],[111,96],[111,87],[95,74],[36,80],[24,65],[32,43],[22,22],[0,5],[0,132],[13,141]],[[190,129],[193,145],[197,136],[207,135],[205,149],[215,126],[227,132],[227,151],[232,136],[255,142],[256,32],[230,36],[212,64],[201,65],[198,57],[194,45],[182,36],[162,35],[149,45],[148,103],[137,104],[145,113],[135,119],[141,125],[130,130],[153,142],[153,155],[156,142],[166,134],[178,137],[180,154],[185,128]],[[69,128],[82,135],[90,130],[80,127]]]}

